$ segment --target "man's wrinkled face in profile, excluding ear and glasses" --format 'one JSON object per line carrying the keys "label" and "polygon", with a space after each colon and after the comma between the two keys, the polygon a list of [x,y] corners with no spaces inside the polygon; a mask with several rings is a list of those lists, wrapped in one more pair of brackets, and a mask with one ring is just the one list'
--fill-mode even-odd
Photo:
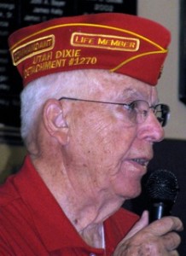
{"label": "man's wrinkled face in profile, excluding ear and glasses", "polygon": [[[156,89],[136,79],[105,73],[96,76],[96,82],[91,79],[96,83],[95,91],[81,98],[127,104],[143,100],[150,106],[158,102]],[[74,187],[78,186],[87,195],[90,192],[92,196],[111,200],[139,195],[141,178],[153,157],[153,143],[164,137],[152,110],[143,123],[133,124],[123,106],[93,102],[70,104],[73,112],[67,151]]]}

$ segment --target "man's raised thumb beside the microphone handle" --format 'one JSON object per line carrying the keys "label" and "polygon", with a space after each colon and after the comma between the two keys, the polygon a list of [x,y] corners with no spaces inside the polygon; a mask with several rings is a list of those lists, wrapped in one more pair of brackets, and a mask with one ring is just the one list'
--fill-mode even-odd
{"label": "man's raised thumb beside the microphone handle", "polygon": [[139,230],[142,230],[144,227],[148,225],[148,211],[142,212],[142,217],[137,221],[137,223],[133,226],[133,228],[130,230],[130,232],[125,236],[125,240],[131,238],[131,236],[134,236],[137,234]]}

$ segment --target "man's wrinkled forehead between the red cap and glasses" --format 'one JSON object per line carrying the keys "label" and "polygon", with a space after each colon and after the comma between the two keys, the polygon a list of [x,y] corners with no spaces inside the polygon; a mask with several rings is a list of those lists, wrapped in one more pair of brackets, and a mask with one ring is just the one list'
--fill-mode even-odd
{"label": "man's wrinkled forehead between the red cap and glasses", "polygon": [[[118,99],[142,99],[142,98],[157,98],[156,86],[144,83],[138,79],[133,79],[130,76],[110,73],[106,70],[84,70],[76,71],[76,76],[80,82],[79,86],[84,95],[87,92],[89,96],[103,96],[103,98]],[[70,76],[73,78],[73,75]]]}

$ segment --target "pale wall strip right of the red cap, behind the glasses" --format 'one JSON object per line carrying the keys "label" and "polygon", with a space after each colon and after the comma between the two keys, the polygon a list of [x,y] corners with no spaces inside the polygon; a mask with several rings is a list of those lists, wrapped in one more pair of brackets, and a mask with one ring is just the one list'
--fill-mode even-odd
{"label": "pale wall strip right of the red cap, behind the glasses", "polygon": [[171,46],[158,90],[160,101],[168,103],[171,107],[171,119],[166,126],[166,137],[186,139],[186,105],[178,100],[179,2],[179,0],[138,0],[138,15],[160,22],[171,31]]}

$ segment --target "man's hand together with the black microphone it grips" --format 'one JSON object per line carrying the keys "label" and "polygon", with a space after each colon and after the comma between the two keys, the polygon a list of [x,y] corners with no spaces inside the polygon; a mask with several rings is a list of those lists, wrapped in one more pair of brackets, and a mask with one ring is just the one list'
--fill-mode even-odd
{"label": "man's hand together with the black microphone it grips", "polygon": [[[148,212],[144,211],[137,224],[119,242],[113,256],[178,255],[181,239],[177,231],[183,230],[183,224],[179,218],[171,216],[171,207],[179,191],[177,178],[165,170],[155,171],[148,178],[146,189],[150,224]],[[162,218],[164,216],[167,217]]]}

